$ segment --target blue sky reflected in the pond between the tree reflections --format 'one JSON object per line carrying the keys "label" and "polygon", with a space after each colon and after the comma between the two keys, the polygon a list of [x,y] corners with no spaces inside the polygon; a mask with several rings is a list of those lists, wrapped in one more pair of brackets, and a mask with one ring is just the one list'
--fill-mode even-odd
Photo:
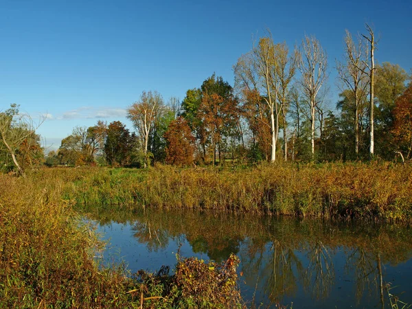
{"label": "blue sky reflected in the pond between the tree reflections", "polygon": [[[130,224],[113,222],[111,225],[98,227],[98,231],[103,233],[105,240],[110,239],[107,250],[103,255],[104,261],[109,264],[124,261],[132,272],[142,268],[157,271],[161,265],[168,265],[173,269],[176,264],[176,251],[179,244],[182,244],[181,255],[184,257],[195,256],[205,260],[208,258],[206,253],[194,253],[185,236],[168,238],[165,244],[157,247],[152,245],[150,248],[147,243],[138,242],[137,238],[133,236],[136,231],[133,230]],[[156,240],[153,230],[152,238]],[[251,259],[248,252],[248,242],[249,240],[246,238],[244,242],[240,243],[238,253],[240,260],[243,262],[238,268],[238,273],[244,272],[244,275],[240,277],[242,295],[245,299],[252,299],[253,294],[255,294],[255,303],[257,305],[261,302],[268,304],[268,294],[270,292],[268,291],[268,282],[270,281],[271,269],[273,269],[271,268],[271,263],[273,263],[272,244],[266,244],[261,257],[258,251]],[[356,274],[354,268],[347,268],[347,255],[350,250],[344,247],[328,250],[330,266],[334,272],[332,282],[324,284],[324,286],[327,285],[325,290],[327,290],[328,297],[319,298],[313,290],[310,290],[315,285],[314,276],[311,277],[308,287],[304,288],[302,275],[299,275],[296,266],[293,266],[293,275],[297,281],[296,289],[288,295],[277,297],[280,303],[291,304],[293,302],[294,308],[381,308],[380,295],[376,288],[376,282],[373,281],[374,278],[371,278],[370,290],[365,286],[361,299],[356,299]],[[297,260],[301,262],[303,269],[306,270],[309,265],[308,254],[310,249],[306,247],[293,251],[293,253]],[[261,258],[260,264],[258,264],[259,258]],[[376,262],[374,261],[372,264],[376,265]],[[323,264],[324,266],[325,264]],[[391,292],[393,294],[404,292],[400,295],[400,299],[412,303],[412,286],[409,284],[412,275],[412,260],[397,266],[384,265],[382,273],[385,283],[391,282],[392,286],[397,286]],[[386,290],[384,294],[385,299],[387,299]]]}

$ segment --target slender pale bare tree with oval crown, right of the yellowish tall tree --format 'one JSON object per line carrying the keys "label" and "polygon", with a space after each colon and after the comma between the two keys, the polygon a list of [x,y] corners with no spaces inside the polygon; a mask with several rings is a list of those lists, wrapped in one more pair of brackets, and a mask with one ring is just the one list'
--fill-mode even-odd
{"label": "slender pale bare tree with oval crown, right of the yellowish tall tree", "polygon": [[317,95],[327,78],[328,57],[314,36],[305,36],[299,48],[297,67],[301,72],[301,87],[310,104],[312,160],[314,160],[314,124]]}

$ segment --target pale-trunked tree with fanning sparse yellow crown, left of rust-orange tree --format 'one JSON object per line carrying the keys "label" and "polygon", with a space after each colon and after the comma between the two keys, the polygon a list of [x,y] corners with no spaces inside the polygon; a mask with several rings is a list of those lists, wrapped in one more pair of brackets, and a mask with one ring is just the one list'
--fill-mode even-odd
{"label": "pale-trunked tree with fanning sparse yellow crown, left of rust-orange tree", "polygon": [[140,100],[135,102],[127,110],[127,117],[133,122],[139,135],[141,148],[144,152],[145,166],[149,163],[148,144],[150,132],[155,126],[155,120],[160,117],[163,111],[163,98],[157,91],[143,91]]}

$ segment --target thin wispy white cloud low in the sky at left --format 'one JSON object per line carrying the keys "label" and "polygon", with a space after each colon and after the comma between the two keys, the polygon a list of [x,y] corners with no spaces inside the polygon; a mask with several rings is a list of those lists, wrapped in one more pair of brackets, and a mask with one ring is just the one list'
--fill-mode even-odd
{"label": "thin wispy white cloud low in the sky at left", "polygon": [[111,117],[126,117],[126,108],[80,107],[66,111],[52,119],[105,119]]}

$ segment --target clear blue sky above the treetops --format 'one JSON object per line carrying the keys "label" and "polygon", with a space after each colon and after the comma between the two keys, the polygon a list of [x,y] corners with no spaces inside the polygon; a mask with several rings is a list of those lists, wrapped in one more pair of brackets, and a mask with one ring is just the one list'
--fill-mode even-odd
{"label": "clear blue sky above the treetops", "polygon": [[133,130],[125,110],[141,91],[182,100],[214,72],[233,84],[232,66],[266,27],[290,49],[304,34],[319,39],[336,98],[345,29],[373,25],[376,60],[410,72],[411,13],[412,0],[0,0],[0,110],[17,103],[34,117],[48,113],[38,133],[53,148],[98,119]]}

